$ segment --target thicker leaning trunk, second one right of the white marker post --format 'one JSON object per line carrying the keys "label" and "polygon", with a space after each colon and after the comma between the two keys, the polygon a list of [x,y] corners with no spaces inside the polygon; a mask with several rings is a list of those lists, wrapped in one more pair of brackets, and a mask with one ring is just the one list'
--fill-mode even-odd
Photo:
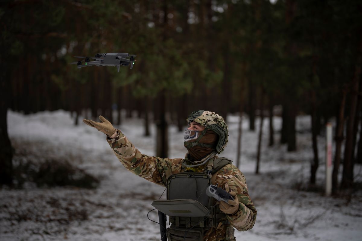
{"label": "thicker leaning trunk, second one right of the white marker post", "polygon": [[[359,58],[361,59],[361,57]],[[343,176],[342,176],[342,188],[351,188],[353,184],[353,159],[352,159],[352,144],[353,144],[353,127],[354,127],[354,117],[356,115],[357,99],[358,99],[358,90],[359,90],[359,75],[361,74],[360,61],[355,68],[354,80],[351,89],[351,108],[348,117],[348,125],[346,130],[346,143],[344,150],[344,160],[343,160]]]}

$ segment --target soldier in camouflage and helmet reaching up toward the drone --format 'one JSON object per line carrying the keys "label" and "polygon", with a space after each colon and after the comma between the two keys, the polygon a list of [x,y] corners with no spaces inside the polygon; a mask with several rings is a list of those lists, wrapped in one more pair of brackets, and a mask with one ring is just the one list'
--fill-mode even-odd
{"label": "soldier in camouflage and helmet reaching up toward the drone", "polygon": [[[230,160],[216,155],[225,149],[228,139],[227,125],[221,116],[210,111],[192,112],[186,119],[189,128],[185,131],[184,146],[188,153],[185,158],[176,159],[141,154],[120,130],[114,129],[103,116],[99,119],[102,122],[83,121],[107,135],[114,154],[132,173],[167,188],[170,176],[190,173],[195,177],[193,173],[204,173],[210,176],[212,184],[226,190],[234,198],[227,203],[216,202],[212,198],[213,202],[209,201],[207,206],[212,211],[202,219],[170,216],[172,225],[167,229],[169,241],[232,241],[235,240],[233,227],[238,231],[247,231],[254,226],[257,211],[249,197],[243,173]],[[196,182],[198,195],[197,185]],[[195,190],[191,191],[195,193]],[[185,196],[188,195],[185,193]]]}

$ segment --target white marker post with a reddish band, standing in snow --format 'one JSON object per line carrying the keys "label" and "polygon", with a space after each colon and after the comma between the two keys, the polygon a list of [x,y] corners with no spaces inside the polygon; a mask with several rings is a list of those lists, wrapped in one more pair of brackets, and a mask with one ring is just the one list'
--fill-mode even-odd
{"label": "white marker post with a reddish band, standing in snow", "polygon": [[332,193],[332,124],[326,125],[326,143],[325,143],[325,195]]}

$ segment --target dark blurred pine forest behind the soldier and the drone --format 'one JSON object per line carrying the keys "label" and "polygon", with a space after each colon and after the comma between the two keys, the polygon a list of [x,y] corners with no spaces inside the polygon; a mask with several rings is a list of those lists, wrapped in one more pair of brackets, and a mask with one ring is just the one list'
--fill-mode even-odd
{"label": "dark blurred pine forest behind the soldier and the drone", "polygon": [[[16,178],[8,109],[64,109],[75,125],[79,116],[98,115],[121,124],[122,111],[126,117],[137,111],[145,135],[156,123],[160,157],[168,154],[168,125],[183,131],[185,117],[205,109],[224,117],[246,113],[250,130],[256,116],[281,115],[281,130],[270,121],[269,146],[281,131],[288,151],[297,147],[296,116],[310,115],[311,185],[318,149],[324,148],[317,136],[335,121],[332,190],[358,187],[353,167],[362,162],[361,1],[2,1],[0,22],[1,184],[11,186]],[[106,52],[136,54],[137,61],[119,73],[68,65],[77,60],[72,55]]]}

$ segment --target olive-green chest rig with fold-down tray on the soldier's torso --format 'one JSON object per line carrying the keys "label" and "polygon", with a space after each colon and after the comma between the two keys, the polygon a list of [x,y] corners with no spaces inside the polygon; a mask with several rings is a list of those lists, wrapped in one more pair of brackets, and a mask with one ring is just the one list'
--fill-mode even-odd
{"label": "olive-green chest rig with fold-down tray on the soldier's torso", "polygon": [[218,171],[231,163],[227,158],[211,158],[203,172],[176,173],[167,180],[167,200],[152,205],[169,216],[169,241],[202,241],[203,233],[228,224],[226,214],[220,211],[216,200],[206,195],[206,188],[215,184]]}

